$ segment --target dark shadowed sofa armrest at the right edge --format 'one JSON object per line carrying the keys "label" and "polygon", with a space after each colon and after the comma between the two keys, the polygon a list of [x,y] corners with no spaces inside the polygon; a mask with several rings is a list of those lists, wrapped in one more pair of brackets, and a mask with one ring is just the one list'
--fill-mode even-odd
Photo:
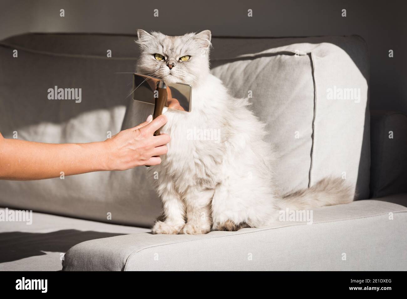
{"label": "dark shadowed sofa armrest at the right edge", "polygon": [[407,192],[407,116],[370,111],[370,198]]}

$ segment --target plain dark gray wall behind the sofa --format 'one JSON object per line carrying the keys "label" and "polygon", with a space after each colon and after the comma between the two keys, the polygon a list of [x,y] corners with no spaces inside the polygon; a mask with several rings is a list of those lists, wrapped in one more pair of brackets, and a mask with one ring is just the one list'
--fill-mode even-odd
{"label": "plain dark gray wall behind the sofa", "polygon": [[[59,17],[61,8],[65,17]],[[159,17],[153,17],[154,9]],[[347,17],[341,17],[342,9]],[[215,36],[357,34],[370,49],[371,109],[407,113],[406,9],[405,0],[1,0],[0,39],[25,32],[135,34],[136,28],[169,35],[204,29]]]}

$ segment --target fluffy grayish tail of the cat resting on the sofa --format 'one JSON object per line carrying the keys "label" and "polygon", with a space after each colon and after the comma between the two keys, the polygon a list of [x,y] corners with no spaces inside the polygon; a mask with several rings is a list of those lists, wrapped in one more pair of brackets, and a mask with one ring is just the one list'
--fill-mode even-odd
{"label": "fluffy grayish tail of the cat resting on the sofa", "polygon": [[347,204],[354,199],[354,187],[341,178],[324,178],[311,186],[283,195],[281,209],[310,210],[323,206]]}

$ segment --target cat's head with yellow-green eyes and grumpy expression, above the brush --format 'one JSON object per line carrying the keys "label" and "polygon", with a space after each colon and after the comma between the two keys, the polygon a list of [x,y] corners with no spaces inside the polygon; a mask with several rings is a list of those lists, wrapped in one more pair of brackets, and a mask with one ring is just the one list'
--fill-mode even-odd
{"label": "cat's head with yellow-green eyes and grumpy expression, above the brush", "polygon": [[209,73],[211,33],[168,36],[160,32],[137,30],[140,58],[137,72],[160,78],[167,83],[182,82],[191,85]]}

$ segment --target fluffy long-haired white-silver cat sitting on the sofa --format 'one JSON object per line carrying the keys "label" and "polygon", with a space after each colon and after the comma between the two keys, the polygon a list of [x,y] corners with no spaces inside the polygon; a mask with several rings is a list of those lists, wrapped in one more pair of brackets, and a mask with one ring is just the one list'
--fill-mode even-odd
{"label": "fluffy long-haired white-silver cat sitting on the sofa", "polygon": [[[154,234],[262,228],[276,223],[278,211],[286,208],[353,200],[351,186],[341,178],[324,178],[308,189],[280,194],[273,171],[277,154],[264,141],[265,124],[250,111],[247,98],[232,97],[210,74],[210,30],[167,36],[139,29],[137,35],[137,72],[193,86],[191,112],[164,113],[168,122],[161,132],[171,141],[161,164],[150,169],[158,172],[165,220],[156,221]],[[192,130],[218,134],[191,137]]]}

